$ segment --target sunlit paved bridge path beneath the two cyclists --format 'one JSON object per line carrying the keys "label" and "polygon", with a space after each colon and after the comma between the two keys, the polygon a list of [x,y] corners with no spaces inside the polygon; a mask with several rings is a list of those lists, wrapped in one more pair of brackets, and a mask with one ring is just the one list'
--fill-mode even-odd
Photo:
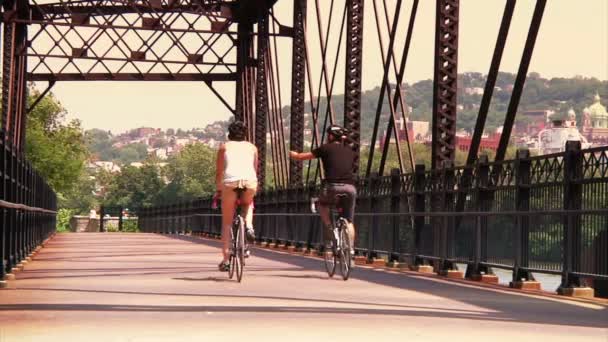
{"label": "sunlit paved bridge path beneath the two cyclists", "polygon": [[243,283],[216,241],[60,234],[0,290],[0,342],[608,341],[608,308],[255,250]]}

